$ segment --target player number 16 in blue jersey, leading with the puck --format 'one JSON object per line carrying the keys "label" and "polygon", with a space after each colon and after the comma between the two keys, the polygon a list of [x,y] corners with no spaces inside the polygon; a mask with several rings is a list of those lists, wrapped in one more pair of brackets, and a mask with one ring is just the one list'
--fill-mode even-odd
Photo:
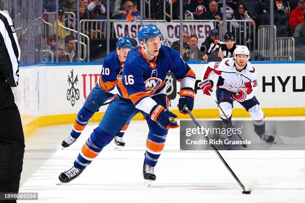
{"label": "player number 16 in blue jersey, leading with the puck", "polygon": [[78,177],[88,164],[111,142],[116,133],[138,112],[146,115],[149,134],[143,176],[147,186],[155,180],[154,166],[163,150],[167,131],[178,127],[177,116],[168,110],[165,77],[172,72],[180,82],[178,108],[194,105],[195,74],[174,49],[161,45],[163,36],[155,25],[138,30],[140,46],[132,49],[125,62],[122,80],[116,85],[118,98],[107,108],[99,126],[94,129],[81,149],[74,166],[59,175],[60,183]]}

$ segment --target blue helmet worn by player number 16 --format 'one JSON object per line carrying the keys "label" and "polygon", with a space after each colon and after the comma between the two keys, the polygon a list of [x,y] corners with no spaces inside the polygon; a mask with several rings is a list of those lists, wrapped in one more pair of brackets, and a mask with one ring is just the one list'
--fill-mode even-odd
{"label": "blue helmet worn by player number 16", "polygon": [[159,36],[163,40],[163,35],[161,31],[153,24],[142,25],[138,30],[138,41],[141,40],[146,43],[146,40],[151,37]]}

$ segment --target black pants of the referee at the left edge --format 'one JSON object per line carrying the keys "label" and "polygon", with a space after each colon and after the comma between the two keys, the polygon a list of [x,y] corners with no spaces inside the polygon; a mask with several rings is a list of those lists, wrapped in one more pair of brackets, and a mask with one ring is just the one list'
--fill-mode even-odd
{"label": "black pants of the referee at the left edge", "polygon": [[[23,154],[24,137],[18,109],[0,110],[0,193],[18,193]],[[15,202],[0,200],[0,203]]]}

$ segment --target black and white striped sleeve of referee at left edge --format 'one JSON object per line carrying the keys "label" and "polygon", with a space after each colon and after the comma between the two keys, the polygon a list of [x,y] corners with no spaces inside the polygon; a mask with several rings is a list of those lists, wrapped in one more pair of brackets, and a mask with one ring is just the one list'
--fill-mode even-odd
{"label": "black and white striped sleeve of referee at left edge", "polygon": [[12,20],[0,11],[0,72],[10,87],[18,85],[19,60],[20,48]]}

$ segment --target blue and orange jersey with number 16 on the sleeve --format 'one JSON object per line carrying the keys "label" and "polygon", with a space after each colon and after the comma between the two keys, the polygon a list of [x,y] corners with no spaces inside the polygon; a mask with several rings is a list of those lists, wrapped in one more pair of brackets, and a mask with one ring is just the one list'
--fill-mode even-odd
{"label": "blue and orange jersey with number 16 on the sleeve", "polygon": [[181,88],[194,89],[195,74],[176,50],[161,45],[159,54],[149,62],[144,58],[142,47],[136,47],[128,53],[123,77],[116,86],[118,94],[130,99],[136,108],[150,113],[157,104],[151,96],[165,94],[168,71],[174,74]]}

